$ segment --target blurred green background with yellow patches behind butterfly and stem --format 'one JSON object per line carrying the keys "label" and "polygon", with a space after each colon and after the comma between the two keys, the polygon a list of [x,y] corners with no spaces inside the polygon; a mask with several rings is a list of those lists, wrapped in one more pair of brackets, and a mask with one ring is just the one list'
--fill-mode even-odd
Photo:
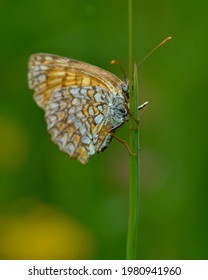
{"label": "blurred green background with yellow patches behind butterfly and stem", "polygon": [[[87,165],[50,141],[27,86],[47,52],[128,70],[124,0],[0,1],[0,258],[124,259],[129,155],[114,140]],[[140,68],[139,259],[208,258],[206,1],[134,1]],[[117,135],[128,139],[128,124]]]}

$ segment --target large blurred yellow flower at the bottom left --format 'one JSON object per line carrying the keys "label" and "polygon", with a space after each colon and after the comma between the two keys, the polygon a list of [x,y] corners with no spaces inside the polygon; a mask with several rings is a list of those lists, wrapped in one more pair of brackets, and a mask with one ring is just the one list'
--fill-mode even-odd
{"label": "large blurred yellow flower at the bottom left", "polygon": [[23,215],[1,219],[3,259],[89,259],[94,253],[88,229],[63,213],[38,204]]}

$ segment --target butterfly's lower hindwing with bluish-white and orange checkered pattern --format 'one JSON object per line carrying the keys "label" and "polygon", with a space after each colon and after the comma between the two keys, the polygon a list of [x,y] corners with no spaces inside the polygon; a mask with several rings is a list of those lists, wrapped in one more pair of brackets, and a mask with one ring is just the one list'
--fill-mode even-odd
{"label": "butterfly's lower hindwing with bluish-white and orange checkered pattern", "polygon": [[[92,92],[94,98],[90,97]],[[100,87],[73,86],[51,94],[45,107],[47,128],[52,141],[71,158],[86,163],[109,134],[105,98],[106,92]]]}

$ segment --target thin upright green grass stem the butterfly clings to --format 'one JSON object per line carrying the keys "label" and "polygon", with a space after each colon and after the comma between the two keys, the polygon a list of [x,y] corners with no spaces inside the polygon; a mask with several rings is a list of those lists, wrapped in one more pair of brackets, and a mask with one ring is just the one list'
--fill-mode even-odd
{"label": "thin upright green grass stem the butterfly clings to", "polygon": [[[138,75],[134,67],[134,89],[132,92],[133,80],[133,36],[132,36],[132,0],[129,0],[129,102],[130,111],[135,118],[138,118]],[[129,181],[129,220],[127,234],[128,260],[137,259],[137,227],[138,227],[138,199],[139,199],[139,133],[135,120],[129,120],[129,146],[135,156],[130,156],[130,181]]]}

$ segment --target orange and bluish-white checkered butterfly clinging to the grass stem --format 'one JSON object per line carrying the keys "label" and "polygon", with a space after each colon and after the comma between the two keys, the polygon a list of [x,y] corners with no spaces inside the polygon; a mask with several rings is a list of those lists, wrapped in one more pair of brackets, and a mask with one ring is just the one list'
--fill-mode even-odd
{"label": "orange and bluish-white checkered butterfly clinging to the grass stem", "polygon": [[33,54],[28,82],[45,112],[52,141],[83,164],[106,149],[116,129],[129,119],[128,81],[97,66]]}

